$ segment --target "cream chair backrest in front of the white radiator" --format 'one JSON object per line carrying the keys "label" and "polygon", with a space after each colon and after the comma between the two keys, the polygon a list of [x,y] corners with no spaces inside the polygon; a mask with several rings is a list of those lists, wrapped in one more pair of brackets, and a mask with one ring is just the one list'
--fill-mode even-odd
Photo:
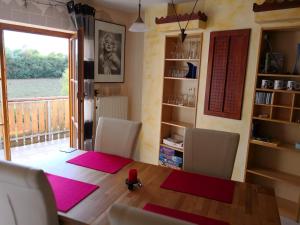
{"label": "cream chair backrest in front of the white radiator", "polygon": [[141,129],[140,122],[100,117],[95,151],[131,158]]}

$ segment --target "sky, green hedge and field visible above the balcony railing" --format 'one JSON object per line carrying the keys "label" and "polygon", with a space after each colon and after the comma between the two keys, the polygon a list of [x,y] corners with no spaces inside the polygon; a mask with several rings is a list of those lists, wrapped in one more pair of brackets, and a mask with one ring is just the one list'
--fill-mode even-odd
{"label": "sky, green hedge and field visible above the balcony railing", "polygon": [[8,98],[68,95],[68,40],[5,31]]}

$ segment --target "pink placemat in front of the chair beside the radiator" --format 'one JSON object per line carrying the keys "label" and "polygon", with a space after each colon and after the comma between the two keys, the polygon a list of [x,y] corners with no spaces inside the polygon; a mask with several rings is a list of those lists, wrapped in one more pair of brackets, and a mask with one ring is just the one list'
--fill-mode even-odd
{"label": "pink placemat in front of the chair beside the radiator", "polygon": [[132,162],[132,159],[110,155],[102,152],[87,152],[67,161],[78,166],[99,170],[105,173],[116,173]]}

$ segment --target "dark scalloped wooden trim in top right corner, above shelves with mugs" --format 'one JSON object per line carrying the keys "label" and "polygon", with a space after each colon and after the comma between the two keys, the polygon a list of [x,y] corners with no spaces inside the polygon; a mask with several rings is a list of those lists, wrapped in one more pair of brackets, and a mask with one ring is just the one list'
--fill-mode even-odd
{"label": "dark scalloped wooden trim in top right corner, above shelves with mugs", "polygon": [[253,4],[254,12],[265,12],[272,10],[280,10],[280,9],[290,9],[290,8],[298,8],[300,7],[300,0],[284,0],[283,2],[268,2],[265,1],[263,4],[258,5],[257,3]]}

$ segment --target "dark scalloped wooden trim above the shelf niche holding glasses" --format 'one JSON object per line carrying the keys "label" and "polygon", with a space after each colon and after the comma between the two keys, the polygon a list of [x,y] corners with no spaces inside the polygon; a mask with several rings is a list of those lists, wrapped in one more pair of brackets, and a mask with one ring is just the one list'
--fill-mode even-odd
{"label": "dark scalloped wooden trim above the shelf niche holding glasses", "polygon": [[172,16],[166,16],[166,17],[156,17],[155,18],[155,23],[156,24],[165,24],[165,23],[174,23],[174,22],[183,22],[183,21],[188,21],[188,20],[202,20],[204,22],[207,21],[207,16],[205,13],[202,13],[201,11],[197,12],[197,13],[185,13],[183,15],[179,14],[178,15],[178,19],[176,15],[172,15]]}

